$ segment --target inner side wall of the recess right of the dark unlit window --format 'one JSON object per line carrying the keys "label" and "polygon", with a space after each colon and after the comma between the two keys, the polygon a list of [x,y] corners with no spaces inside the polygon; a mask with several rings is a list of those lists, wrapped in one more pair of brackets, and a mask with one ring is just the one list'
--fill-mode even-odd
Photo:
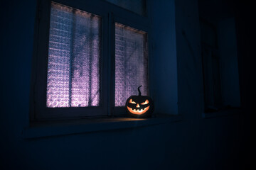
{"label": "inner side wall of the recess right of the dark unlit window", "polygon": [[[225,18],[218,25],[223,104],[239,107],[240,90],[235,18]],[[232,85],[230,86],[230,84]]]}

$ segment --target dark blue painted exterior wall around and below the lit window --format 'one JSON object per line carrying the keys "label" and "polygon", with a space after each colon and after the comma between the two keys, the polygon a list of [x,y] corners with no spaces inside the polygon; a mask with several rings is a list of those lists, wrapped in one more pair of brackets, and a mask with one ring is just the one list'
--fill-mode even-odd
{"label": "dark blue painted exterior wall around and below the lit window", "polygon": [[[243,169],[250,155],[247,113],[204,119],[197,1],[154,1],[158,101],[171,96],[183,120],[129,130],[25,140],[36,1],[4,1],[1,10],[1,169]],[[158,28],[156,24],[161,26]],[[3,31],[2,31],[3,29]],[[162,31],[162,32],[161,32]],[[176,51],[171,43],[176,40]],[[176,54],[176,56],[175,56]],[[169,71],[176,67],[178,77]],[[164,67],[163,67],[164,66]],[[160,69],[161,67],[161,69]],[[156,69],[157,70],[157,69]],[[170,77],[176,77],[173,82]],[[166,83],[166,84],[165,84]],[[246,86],[245,86],[246,87]],[[178,98],[178,106],[174,101]],[[246,96],[245,96],[246,98]],[[159,102],[160,103],[160,102]],[[165,106],[166,107],[166,106]],[[175,108],[178,107],[178,108]],[[160,110],[159,110],[160,111]],[[250,119],[250,117],[249,117]]]}

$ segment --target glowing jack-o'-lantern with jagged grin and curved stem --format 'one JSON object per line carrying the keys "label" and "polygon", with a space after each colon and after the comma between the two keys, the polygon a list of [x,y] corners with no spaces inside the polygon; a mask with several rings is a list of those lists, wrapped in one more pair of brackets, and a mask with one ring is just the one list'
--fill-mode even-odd
{"label": "glowing jack-o'-lantern with jagged grin and curved stem", "polygon": [[130,96],[127,98],[125,108],[129,115],[136,118],[148,118],[154,111],[154,103],[149,96],[142,96],[138,87],[139,96]]}

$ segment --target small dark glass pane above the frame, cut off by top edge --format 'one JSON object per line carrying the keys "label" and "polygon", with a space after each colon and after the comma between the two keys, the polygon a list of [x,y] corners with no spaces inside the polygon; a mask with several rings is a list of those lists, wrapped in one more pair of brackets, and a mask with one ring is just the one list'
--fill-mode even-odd
{"label": "small dark glass pane above the frame, cut off by top edge", "polygon": [[138,13],[139,15],[146,15],[146,0],[106,0],[122,8],[126,8],[129,11]]}

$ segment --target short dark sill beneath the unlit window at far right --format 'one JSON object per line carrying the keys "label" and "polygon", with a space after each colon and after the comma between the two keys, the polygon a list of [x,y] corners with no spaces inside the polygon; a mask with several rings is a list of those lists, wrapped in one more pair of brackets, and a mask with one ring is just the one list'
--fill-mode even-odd
{"label": "short dark sill beneath the unlit window at far right", "polygon": [[229,108],[215,112],[203,113],[203,118],[216,118],[230,115],[238,115],[240,113],[242,113],[242,109],[240,108]]}

